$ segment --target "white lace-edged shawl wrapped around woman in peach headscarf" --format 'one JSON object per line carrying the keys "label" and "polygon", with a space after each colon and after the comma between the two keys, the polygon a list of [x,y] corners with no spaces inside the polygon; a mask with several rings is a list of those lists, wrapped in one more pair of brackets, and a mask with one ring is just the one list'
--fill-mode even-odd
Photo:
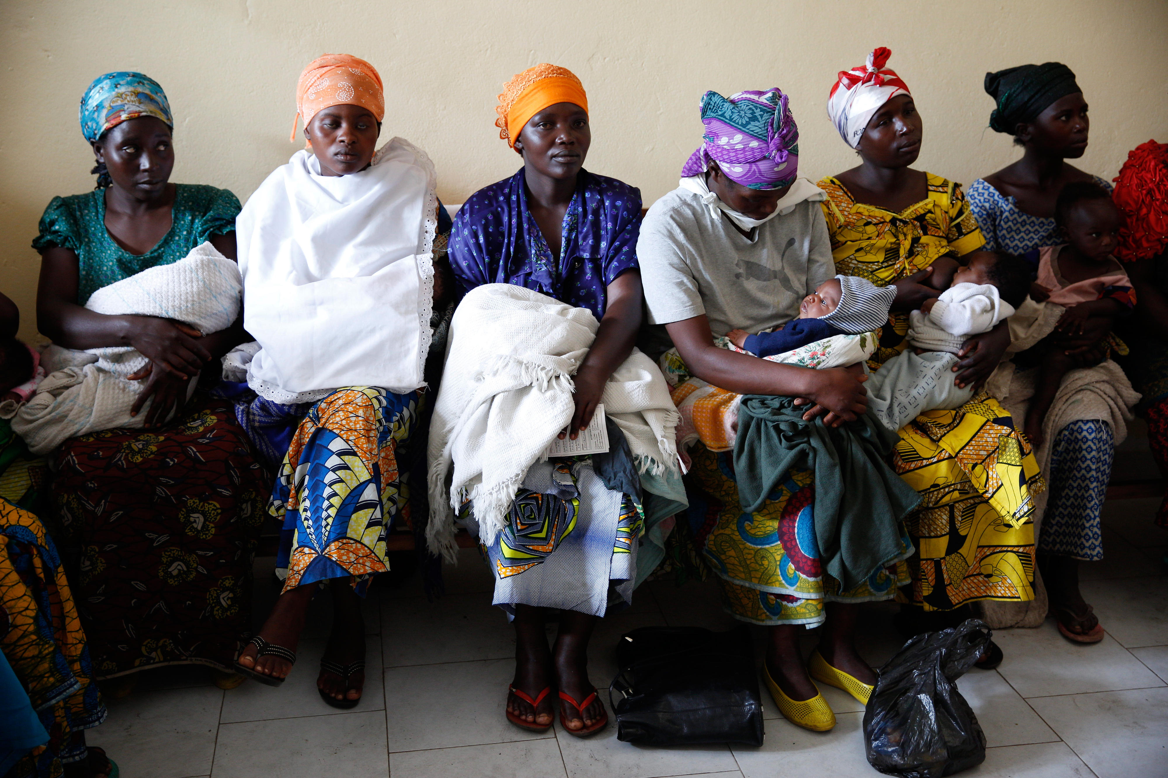
{"label": "white lace-edged shawl wrapped around woman in peach headscarf", "polygon": [[437,228],[434,169],[394,138],[373,165],[320,175],[299,151],[236,218],[244,327],[259,342],[248,383],[278,403],[338,387],[424,384]]}

